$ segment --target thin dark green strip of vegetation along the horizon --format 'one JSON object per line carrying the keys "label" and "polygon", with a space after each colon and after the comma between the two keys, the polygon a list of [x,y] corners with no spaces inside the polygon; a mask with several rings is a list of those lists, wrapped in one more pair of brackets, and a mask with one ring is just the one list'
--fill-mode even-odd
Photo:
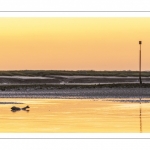
{"label": "thin dark green strip of vegetation along the horizon", "polygon": [[[43,76],[51,75],[66,75],[66,76],[133,76],[138,77],[139,71],[94,71],[94,70],[14,70],[14,71],[0,71],[0,76]],[[150,71],[142,71],[143,77],[150,77]]]}

